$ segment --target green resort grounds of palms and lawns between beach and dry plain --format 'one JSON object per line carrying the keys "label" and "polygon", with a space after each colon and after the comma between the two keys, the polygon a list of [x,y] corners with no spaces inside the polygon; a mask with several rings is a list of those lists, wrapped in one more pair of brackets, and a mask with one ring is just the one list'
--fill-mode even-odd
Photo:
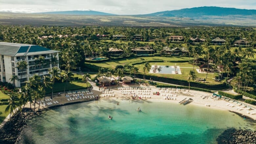
{"label": "green resort grounds of palms and lawns between beach and dry plain", "polygon": [[[125,37],[117,39],[113,35],[121,34]],[[139,34],[141,39],[135,40],[133,35]],[[107,37],[97,36],[107,35]],[[169,36],[181,35],[182,43],[172,43]],[[205,42],[191,44],[190,37],[200,37]],[[225,39],[224,45],[213,45],[211,40],[220,37]],[[236,40],[246,38],[248,46],[236,47]],[[153,79],[166,83],[175,83],[182,86],[197,87],[203,89],[220,90],[231,86],[237,93],[256,99],[256,29],[248,27],[192,27],[192,28],[132,28],[132,27],[62,27],[62,26],[8,26],[0,25],[0,41],[11,43],[25,43],[40,45],[59,53],[61,72],[53,68],[49,76],[39,77],[37,74],[25,82],[21,88],[11,86],[3,88],[0,92],[1,117],[6,113],[17,110],[22,115],[22,108],[30,103],[30,109],[35,110],[32,101],[40,102],[45,94],[66,92],[75,89],[90,88],[89,78],[94,81],[101,76],[117,76],[117,83],[124,75],[147,80]],[[135,47],[150,46],[154,54],[138,56],[132,52]],[[168,54],[163,48],[186,48],[186,53],[176,55]],[[115,56],[109,53],[110,48],[123,50],[121,55]],[[105,57],[103,60],[86,60],[88,57]],[[207,64],[206,73],[197,72],[199,66],[197,60],[202,58]],[[43,57],[36,60],[39,67],[47,62]],[[51,64],[56,60],[52,59]],[[179,65],[181,73],[153,74],[148,73],[151,65]],[[215,69],[209,72],[209,67]],[[26,65],[20,62],[18,69],[24,71]],[[80,71],[83,75],[74,74]],[[40,70],[39,70],[40,72]],[[230,79],[231,78],[231,79]],[[22,78],[21,78],[22,79]],[[197,82],[203,79],[203,82]],[[231,80],[229,83],[228,80]],[[18,80],[12,77],[11,81]],[[137,79],[138,80],[138,79]],[[98,81],[100,83],[100,79]],[[230,85],[229,85],[230,84]],[[10,84],[9,84],[10,85]],[[248,93],[249,92],[249,93]],[[4,94],[5,93],[5,94]],[[6,95],[7,94],[7,95]],[[40,106],[39,106],[40,107]],[[12,111],[13,110],[13,111]],[[2,116],[3,115],[3,116]],[[2,119],[1,119],[2,120]],[[1,122],[0,120],[0,122]]]}

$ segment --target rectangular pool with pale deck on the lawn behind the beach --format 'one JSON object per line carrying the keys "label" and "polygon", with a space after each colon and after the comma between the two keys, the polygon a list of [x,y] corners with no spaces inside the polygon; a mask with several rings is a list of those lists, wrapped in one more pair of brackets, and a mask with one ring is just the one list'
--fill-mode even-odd
{"label": "rectangular pool with pale deck on the lawn behind the beach", "polygon": [[149,73],[181,74],[180,66],[157,66],[152,65]]}

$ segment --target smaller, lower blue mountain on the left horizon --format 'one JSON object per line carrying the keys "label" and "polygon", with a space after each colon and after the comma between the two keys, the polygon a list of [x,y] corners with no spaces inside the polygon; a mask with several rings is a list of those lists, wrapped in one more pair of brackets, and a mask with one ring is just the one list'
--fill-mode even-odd
{"label": "smaller, lower blue mountain on the left horizon", "polygon": [[111,13],[99,12],[99,11],[81,11],[81,10],[73,10],[73,11],[52,11],[52,12],[39,12],[38,14],[67,14],[67,15],[115,15]]}

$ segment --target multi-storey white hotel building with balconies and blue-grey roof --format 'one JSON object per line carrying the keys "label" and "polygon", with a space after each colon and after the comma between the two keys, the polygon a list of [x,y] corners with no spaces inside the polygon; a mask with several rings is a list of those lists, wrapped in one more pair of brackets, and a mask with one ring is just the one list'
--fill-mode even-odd
{"label": "multi-storey white hotel building with balconies and blue-grey roof", "polygon": [[[52,67],[59,68],[59,52],[38,45],[0,42],[0,81],[20,87],[35,74],[42,79],[44,75],[49,75],[49,69]],[[39,64],[39,57],[44,59],[44,62]],[[26,62],[27,68],[21,70],[17,66],[22,61]],[[11,81],[11,77],[15,75],[19,80]]]}

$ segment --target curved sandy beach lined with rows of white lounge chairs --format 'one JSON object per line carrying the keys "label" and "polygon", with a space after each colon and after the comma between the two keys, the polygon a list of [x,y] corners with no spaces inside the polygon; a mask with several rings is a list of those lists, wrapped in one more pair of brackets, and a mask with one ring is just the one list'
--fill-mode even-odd
{"label": "curved sandy beach lined with rows of white lounge chairs", "polygon": [[[93,84],[93,83],[92,83]],[[122,99],[122,100],[144,100],[144,101],[152,101],[152,102],[170,102],[178,104],[180,101],[186,98],[189,101],[188,105],[199,105],[203,108],[207,109],[222,109],[226,111],[232,111],[236,113],[240,113],[246,117],[250,117],[252,119],[256,119],[256,107],[247,103],[243,103],[237,100],[231,99],[223,99],[218,97],[213,97],[212,93],[200,92],[190,90],[188,92],[187,89],[171,89],[171,88],[156,88],[154,86],[143,86],[143,85],[119,85],[116,87],[112,87],[111,90],[98,90],[98,87],[93,86],[94,88],[91,90],[92,93],[88,93],[88,90],[80,90],[74,92],[67,92],[67,95],[71,98],[73,96],[74,100],[68,100],[64,93],[60,95],[54,95],[51,105],[43,106],[40,105],[41,109],[57,107],[62,105],[69,105],[79,102],[86,102],[95,100],[96,95],[99,96],[100,99]],[[153,94],[159,93],[159,95]],[[79,95],[80,97],[78,98]],[[83,95],[83,96],[82,96]],[[85,98],[85,96],[89,98]],[[135,97],[134,97],[135,96]],[[133,98],[134,97],[134,98]],[[69,99],[70,99],[69,98]],[[77,98],[77,99],[75,99]],[[50,97],[46,97],[46,99],[50,99]],[[54,104],[53,101],[57,101],[58,103]],[[238,103],[237,103],[238,102]],[[47,101],[45,101],[47,103]],[[28,105],[29,106],[29,105]],[[38,109],[38,105],[36,106]],[[250,109],[249,109],[250,108]],[[255,114],[254,114],[255,113]]]}

